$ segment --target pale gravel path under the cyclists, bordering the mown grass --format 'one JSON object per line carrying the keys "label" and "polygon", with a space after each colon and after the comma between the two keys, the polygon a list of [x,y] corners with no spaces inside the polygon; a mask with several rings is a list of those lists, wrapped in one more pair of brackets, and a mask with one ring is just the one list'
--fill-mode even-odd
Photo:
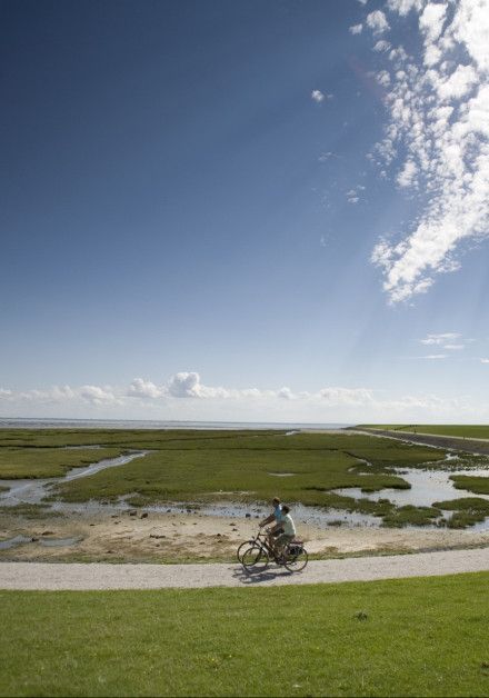
{"label": "pale gravel path under the cyclists, bordering the mown grass", "polygon": [[385,557],[347,558],[309,562],[302,572],[290,574],[276,565],[258,574],[241,566],[107,565],[1,562],[0,589],[162,589],[202,587],[270,587],[277,585],[368,581],[402,577],[430,577],[489,571],[489,548],[447,550]]}

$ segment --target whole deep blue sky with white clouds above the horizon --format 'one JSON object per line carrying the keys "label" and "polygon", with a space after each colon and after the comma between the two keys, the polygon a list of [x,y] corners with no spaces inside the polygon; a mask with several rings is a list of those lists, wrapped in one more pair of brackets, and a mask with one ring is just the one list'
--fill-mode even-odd
{"label": "whole deep blue sky with white clouds above the horizon", "polygon": [[0,416],[489,420],[489,0],[0,0]]}

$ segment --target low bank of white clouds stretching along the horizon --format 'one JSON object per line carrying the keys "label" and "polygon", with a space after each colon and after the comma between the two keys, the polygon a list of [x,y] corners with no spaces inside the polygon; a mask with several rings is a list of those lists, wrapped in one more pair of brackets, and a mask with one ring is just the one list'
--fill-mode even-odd
{"label": "low bank of white clouds stretching along the horizon", "polygon": [[[446,336],[430,336],[447,338]],[[436,343],[436,342],[435,342]],[[445,356],[445,355],[443,355]],[[426,358],[441,358],[431,355]],[[486,362],[481,359],[481,362]],[[196,371],[181,371],[158,385],[134,378],[127,387],[54,386],[48,390],[16,391],[0,387],[4,417],[81,416],[106,418],[222,419],[250,421],[367,421],[440,418],[458,419],[475,409],[471,400],[435,395],[390,396],[371,388],[328,386],[316,391],[229,388],[202,383]],[[480,406],[478,415],[483,413]],[[489,417],[489,406],[486,406]]]}

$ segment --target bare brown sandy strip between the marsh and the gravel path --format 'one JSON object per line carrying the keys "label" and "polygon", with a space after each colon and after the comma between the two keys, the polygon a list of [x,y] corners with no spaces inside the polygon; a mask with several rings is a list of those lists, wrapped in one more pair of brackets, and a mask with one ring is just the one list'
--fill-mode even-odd
{"label": "bare brown sandy strip between the marsh and the gravel path", "polygon": [[[142,518],[141,518],[142,517]],[[0,551],[0,560],[182,561],[233,559],[240,542],[257,531],[257,520],[199,513],[77,513],[24,519],[0,512],[0,538],[23,535],[33,541]],[[44,547],[41,541],[80,537],[73,546]],[[390,529],[300,525],[298,537],[310,554],[355,555],[419,551],[489,545],[489,531]]]}

